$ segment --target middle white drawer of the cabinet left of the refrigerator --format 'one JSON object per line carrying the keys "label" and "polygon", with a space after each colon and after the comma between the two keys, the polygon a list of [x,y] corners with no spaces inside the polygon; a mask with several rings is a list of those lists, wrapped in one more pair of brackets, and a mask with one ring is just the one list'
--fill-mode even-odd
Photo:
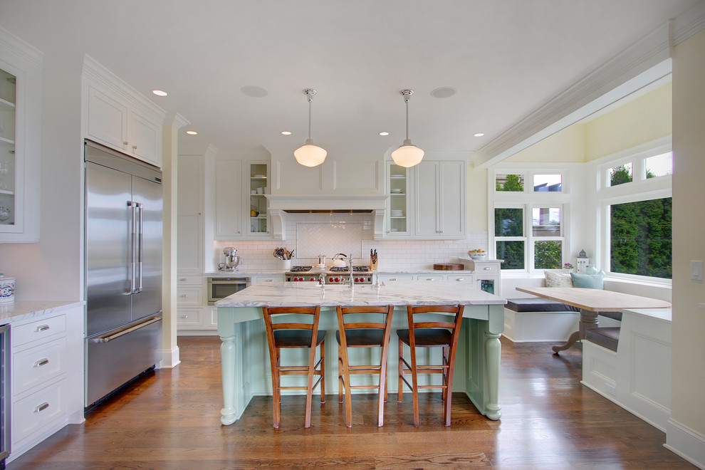
{"label": "middle white drawer of the cabinet left of the refrigerator", "polygon": [[66,367],[66,338],[12,355],[12,385],[19,395],[61,375]]}

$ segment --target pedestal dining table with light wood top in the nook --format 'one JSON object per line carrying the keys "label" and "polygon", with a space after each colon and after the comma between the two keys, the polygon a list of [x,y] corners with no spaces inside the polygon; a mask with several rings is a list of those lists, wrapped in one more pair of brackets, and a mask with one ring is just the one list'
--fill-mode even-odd
{"label": "pedestal dining table with light wood top in the nook", "polygon": [[668,308],[670,302],[657,298],[635,296],[628,293],[606,291],[583,287],[517,287],[517,291],[530,293],[533,296],[548,298],[551,301],[565,303],[580,308],[578,331],[571,333],[563,345],[553,346],[553,352],[558,354],[570,346],[585,339],[585,330],[596,328],[599,324],[597,315],[600,312],[621,312],[625,308]]}

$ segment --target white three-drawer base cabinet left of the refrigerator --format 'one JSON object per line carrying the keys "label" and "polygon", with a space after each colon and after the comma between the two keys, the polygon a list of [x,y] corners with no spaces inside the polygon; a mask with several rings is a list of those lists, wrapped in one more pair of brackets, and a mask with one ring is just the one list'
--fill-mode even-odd
{"label": "white three-drawer base cabinet left of the refrigerator", "polygon": [[83,306],[11,323],[9,461],[83,422]]}

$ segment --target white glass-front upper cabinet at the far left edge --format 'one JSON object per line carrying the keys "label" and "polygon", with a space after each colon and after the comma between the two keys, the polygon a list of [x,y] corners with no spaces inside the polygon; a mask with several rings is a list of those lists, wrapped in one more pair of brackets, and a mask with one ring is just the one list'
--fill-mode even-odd
{"label": "white glass-front upper cabinet at the far left edge", "polygon": [[39,241],[41,66],[0,31],[0,243]]}

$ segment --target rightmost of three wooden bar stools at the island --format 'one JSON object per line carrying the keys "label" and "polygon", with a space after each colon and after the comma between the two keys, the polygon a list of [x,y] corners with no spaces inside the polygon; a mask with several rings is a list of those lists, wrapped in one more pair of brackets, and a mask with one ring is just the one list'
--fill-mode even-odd
{"label": "rightmost of three wooden bar stools at the island", "polygon": [[[399,392],[397,401],[402,401],[403,382],[412,390],[414,398],[414,426],[416,427],[419,427],[419,389],[429,388],[443,389],[443,421],[446,426],[450,426],[453,370],[463,310],[463,305],[407,305],[409,329],[397,330],[397,336],[399,337]],[[455,315],[455,318],[452,322],[436,320],[435,318],[423,318],[421,321],[414,321],[414,315],[424,313],[433,313],[445,317]],[[409,346],[411,350],[410,364],[404,359],[404,345]],[[416,348],[443,348],[442,363],[439,365],[419,365],[417,363]],[[404,378],[404,375],[408,374],[412,376],[411,384]],[[442,385],[419,385],[419,374],[441,374],[443,377]]]}

